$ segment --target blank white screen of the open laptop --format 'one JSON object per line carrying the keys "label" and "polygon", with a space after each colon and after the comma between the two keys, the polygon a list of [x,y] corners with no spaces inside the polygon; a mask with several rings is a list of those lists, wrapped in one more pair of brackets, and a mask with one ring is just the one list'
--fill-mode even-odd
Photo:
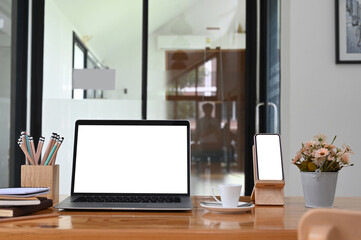
{"label": "blank white screen of the open laptop", "polygon": [[187,126],[79,125],[74,193],[187,194]]}

